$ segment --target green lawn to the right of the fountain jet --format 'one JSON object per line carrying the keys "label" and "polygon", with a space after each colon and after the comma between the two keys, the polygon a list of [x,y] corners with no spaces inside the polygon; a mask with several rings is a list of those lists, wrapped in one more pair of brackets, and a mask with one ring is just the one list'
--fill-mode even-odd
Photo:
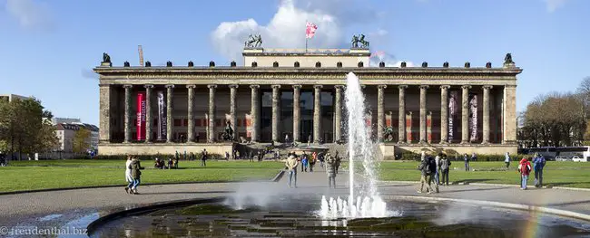
{"label": "green lawn to the right of the fountain jet", "polygon": [[[462,161],[452,161],[448,173],[451,182],[468,181],[471,183],[518,185],[520,175],[516,172],[516,162],[506,170],[504,162],[471,162],[470,167],[476,171],[465,171]],[[388,181],[419,181],[418,162],[384,162],[380,164],[379,178]],[[534,181],[534,174],[529,176],[529,185]],[[553,186],[571,186],[590,188],[590,163],[547,161],[543,170],[543,183]]]}

